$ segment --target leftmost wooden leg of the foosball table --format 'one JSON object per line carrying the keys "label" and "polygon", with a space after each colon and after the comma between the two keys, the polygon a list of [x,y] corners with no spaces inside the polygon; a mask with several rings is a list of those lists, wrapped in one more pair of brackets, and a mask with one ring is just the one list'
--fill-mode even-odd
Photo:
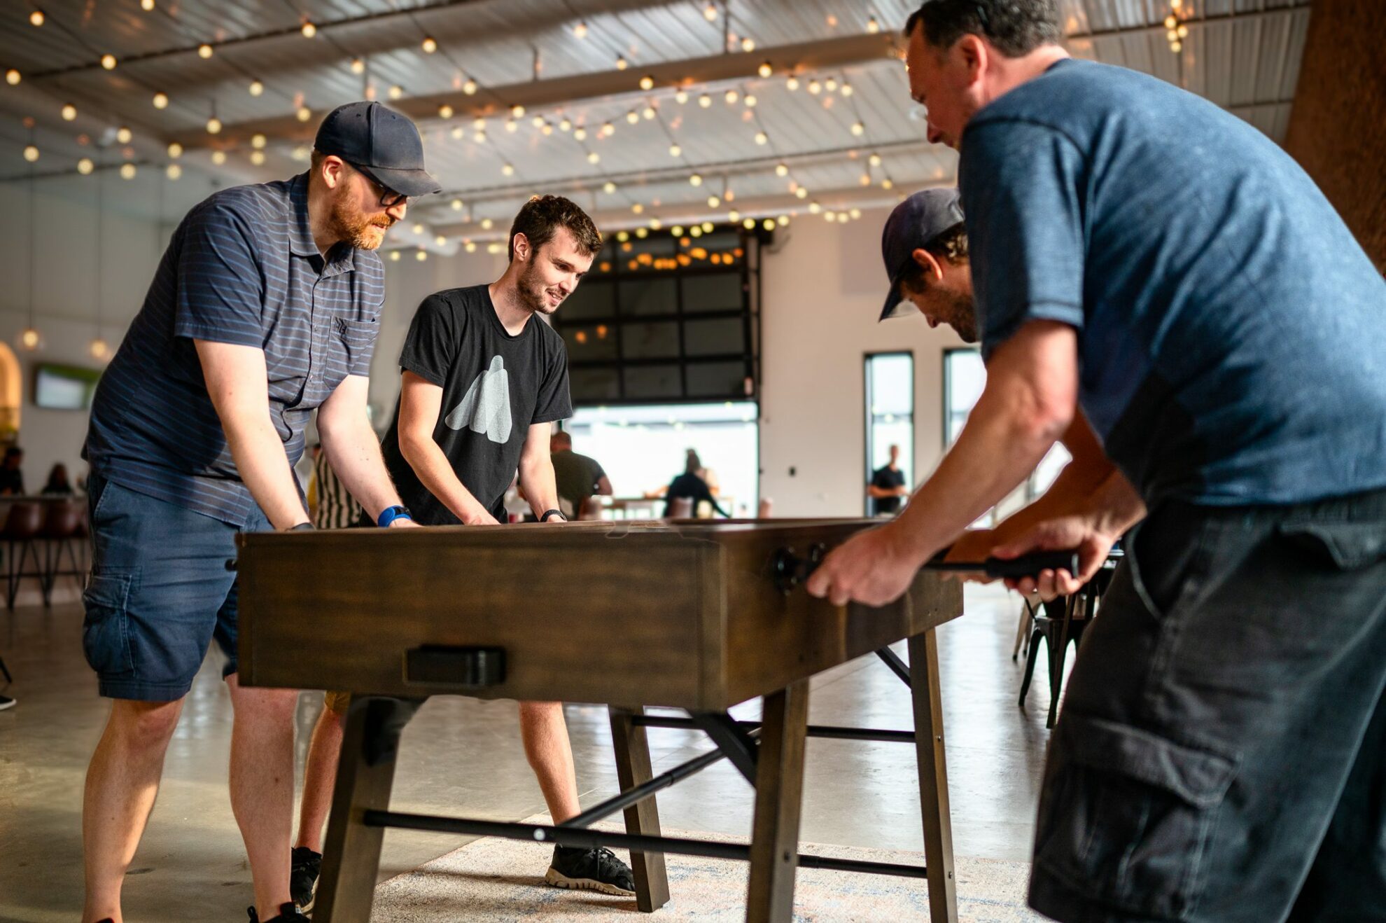
{"label": "leftmost wooden leg of the foosball table", "polygon": [[353,698],[346,712],[337,787],[317,884],[317,923],[367,923],[380,870],[384,827],[366,826],[366,811],[388,811],[399,735],[419,703]]}

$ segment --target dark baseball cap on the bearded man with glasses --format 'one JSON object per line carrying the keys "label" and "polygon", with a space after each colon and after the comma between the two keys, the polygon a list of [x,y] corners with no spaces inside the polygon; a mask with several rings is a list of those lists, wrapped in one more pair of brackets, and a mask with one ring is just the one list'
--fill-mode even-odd
{"label": "dark baseball cap on the bearded man with glasses", "polygon": [[424,143],[406,115],[380,103],[348,103],[327,114],[313,147],[334,154],[402,195],[442,190],[424,169]]}

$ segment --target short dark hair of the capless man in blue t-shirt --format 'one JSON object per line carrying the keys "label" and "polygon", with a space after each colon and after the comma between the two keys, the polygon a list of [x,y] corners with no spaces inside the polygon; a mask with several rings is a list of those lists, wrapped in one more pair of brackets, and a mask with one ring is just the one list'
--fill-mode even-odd
{"label": "short dark hair of the capless man in blue t-shirt", "polygon": [[936,49],[951,49],[965,35],[976,35],[1008,58],[1063,39],[1058,0],[927,0],[905,21],[906,39],[916,25]]}

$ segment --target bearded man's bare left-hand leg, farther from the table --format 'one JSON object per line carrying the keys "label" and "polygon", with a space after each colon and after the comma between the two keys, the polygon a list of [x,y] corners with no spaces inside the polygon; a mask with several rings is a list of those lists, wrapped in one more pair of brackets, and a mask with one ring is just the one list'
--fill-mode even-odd
{"label": "bearded man's bare left-hand leg, farther from the table", "polygon": [[105,917],[121,923],[121,884],[154,808],[164,754],[182,711],[182,698],[111,703],[82,798],[83,923]]}

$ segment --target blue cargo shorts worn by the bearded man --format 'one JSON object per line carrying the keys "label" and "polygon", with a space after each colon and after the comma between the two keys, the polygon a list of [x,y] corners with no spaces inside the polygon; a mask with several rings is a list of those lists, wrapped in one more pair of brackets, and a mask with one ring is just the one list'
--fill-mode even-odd
{"label": "blue cargo shorts worn by the bearded man", "polygon": [[176,701],[187,694],[212,638],[236,672],[236,535],[266,531],[158,500],[91,473],[91,579],[82,647],[108,698]]}

